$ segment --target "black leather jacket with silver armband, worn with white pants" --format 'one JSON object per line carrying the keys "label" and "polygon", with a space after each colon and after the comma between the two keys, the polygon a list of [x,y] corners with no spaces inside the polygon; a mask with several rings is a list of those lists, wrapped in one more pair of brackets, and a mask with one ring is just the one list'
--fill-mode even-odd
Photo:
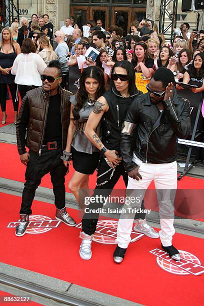
{"label": "black leather jacket with silver armband, worn with white pants", "polygon": [[[126,171],[137,166],[132,161],[133,152],[146,163],[168,163],[176,159],[177,137],[187,138],[190,132],[190,105],[188,100],[177,96],[174,89],[172,101],[164,101],[163,106],[160,112],[156,104],[151,103],[149,93],[137,96],[130,105],[120,138]],[[128,122],[134,123],[132,134],[124,127]]]}

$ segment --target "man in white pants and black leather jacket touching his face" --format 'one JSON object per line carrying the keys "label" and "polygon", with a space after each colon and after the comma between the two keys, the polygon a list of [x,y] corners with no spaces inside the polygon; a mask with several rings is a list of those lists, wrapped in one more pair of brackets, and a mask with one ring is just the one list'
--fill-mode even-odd
{"label": "man in white pants and black leather jacket touching his face", "polygon": [[[127,195],[143,199],[145,190],[154,180],[160,226],[161,247],[168,255],[180,260],[172,245],[175,230],[174,196],[177,187],[176,139],[186,138],[190,132],[189,102],[178,97],[173,73],[158,68],[146,85],[148,92],[135,98],[130,105],[120,139],[120,152],[128,174]],[[127,209],[139,208],[140,203],[124,205],[126,213],[120,215],[117,243],[113,260],[120,263],[130,241],[134,214]]]}

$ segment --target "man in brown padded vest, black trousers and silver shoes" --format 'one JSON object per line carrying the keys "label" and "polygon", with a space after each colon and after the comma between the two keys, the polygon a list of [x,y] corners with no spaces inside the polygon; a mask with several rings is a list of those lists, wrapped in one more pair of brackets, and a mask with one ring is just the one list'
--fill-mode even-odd
{"label": "man in brown padded vest, black trousers and silver shoes", "polygon": [[[66,146],[70,116],[70,92],[61,89],[61,69],[57,60],[51,60],[41,75],[42,87],[32,89],[24,96],[16,124],[17,147],[20,160],[26,165],[25,183],[20,207],[20,223],[16,236],[23,236],[29,224],[29,214],[35,190],[41,178],[50,173],[53,185],[56,218],[66,225],[75,221],[65,208],[64,176],[67,168],[60,159]],[[26,134],[26,143],[25,143]],[[26,151],[25,145],[29,148]]]}

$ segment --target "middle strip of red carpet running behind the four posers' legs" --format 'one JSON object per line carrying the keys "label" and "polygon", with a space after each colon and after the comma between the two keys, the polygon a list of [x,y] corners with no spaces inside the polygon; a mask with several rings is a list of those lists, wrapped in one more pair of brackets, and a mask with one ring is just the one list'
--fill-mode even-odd
{"label": "middle strip of red carpet running behind the four posers' legs", "polygon": [[[17,181],[24,182],[25,166],[20,162],[19,154],[15,144],[0,143],[0,177],[9,178]],[[73,174],[72,165],[69,166],[69,173],[66,175],[66,191],[68,190],[68,181]],[[96,172],[89,176],[89,188],[93,189],[96,182]],[[178,188],[180,189],[203,189],[203,179],[184,176],[182,180],[178,181]],[[52,188],[50,181],[50,175],[45,175],[40,186]],[[125,188],[124,182],[120,177],[119,181],[115,185],[115,189]],[[154,188],[154,184],[151,183],[150,188]]]}

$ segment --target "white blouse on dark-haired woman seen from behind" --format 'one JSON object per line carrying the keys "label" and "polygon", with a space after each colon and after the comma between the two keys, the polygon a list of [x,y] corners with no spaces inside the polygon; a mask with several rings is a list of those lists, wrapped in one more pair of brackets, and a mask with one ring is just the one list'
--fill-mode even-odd
{"label": "white blouse on dark-haired woman seen from behind", "polygon": [[45,62],[37,53],[20,53],[13,62],[11,73],[15,74],[16,84],[41,86],[40,75],[45,68]]}

